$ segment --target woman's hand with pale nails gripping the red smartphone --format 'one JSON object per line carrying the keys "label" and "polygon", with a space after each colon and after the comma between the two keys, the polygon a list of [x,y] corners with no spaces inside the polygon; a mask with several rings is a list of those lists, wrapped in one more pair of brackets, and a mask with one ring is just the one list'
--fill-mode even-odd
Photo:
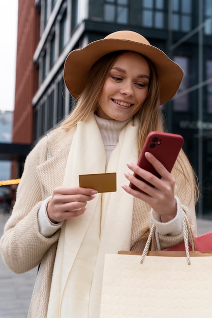
{"label": "woman's hand with pale nails gripping the red smartphone", "polygon": [[123,188],[127,193],[149,204],[161,216],[162,222],[168,222],[175,217],[177,212],[176,200],[174,198],[175,178],[153,154],[146,152],[145,157],[161,175],[161,179],[140,168],[138,165],[128,163],[127,166],[132,172],[135,172],[154,187],[137,179],[133,174],[125,173],[126,178],[139,188],[141,192],[132,189],[128,185],[124,185]]}

